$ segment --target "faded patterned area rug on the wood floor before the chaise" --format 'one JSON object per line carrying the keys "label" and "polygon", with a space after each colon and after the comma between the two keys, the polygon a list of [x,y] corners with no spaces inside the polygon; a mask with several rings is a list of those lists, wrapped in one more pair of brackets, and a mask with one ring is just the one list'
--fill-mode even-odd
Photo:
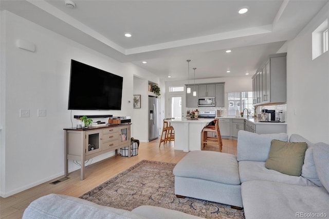
{"label": "faded patterned area rug on the wood floor before the chaise", "polygon": [[80,198],[99,205],[133,210],[152,205],[205,218],[244,218],[243,210],[195,198],[177,198],[174,163],[142,160]]}

